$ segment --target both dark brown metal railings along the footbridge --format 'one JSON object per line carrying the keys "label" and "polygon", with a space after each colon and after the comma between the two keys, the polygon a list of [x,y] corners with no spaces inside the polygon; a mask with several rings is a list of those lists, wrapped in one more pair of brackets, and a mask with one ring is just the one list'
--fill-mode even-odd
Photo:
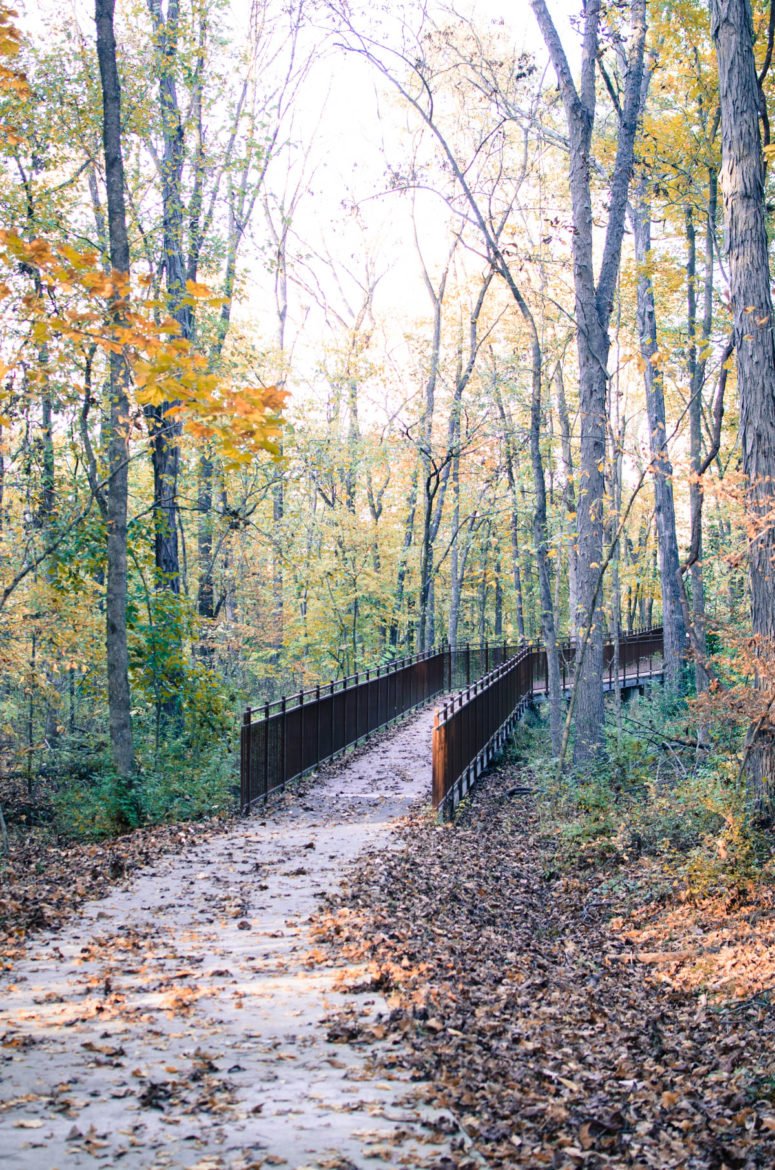
{"label": "both dark brown metal railings along the footbridge", "polygon": [[[605,646],[606,689],[642,687],[663,675],[661,627],[625,634]],[[564,693],[575,647],[560,646]],[[433,725],[432,803],[451,815],[488,766],[531,702],[548,691],[541,646],[443,646],[388,666],[299,690],[247,708],[240,737],[240,804],[248,812],[290,780],[310,772],[438,695],[450,695]]]}

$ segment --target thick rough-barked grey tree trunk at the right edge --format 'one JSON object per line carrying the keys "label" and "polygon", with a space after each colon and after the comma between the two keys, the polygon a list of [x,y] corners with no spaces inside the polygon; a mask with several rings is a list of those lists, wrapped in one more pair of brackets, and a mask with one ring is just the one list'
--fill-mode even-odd
{"label": "thick rough-barked grey tree trunk at the right edge", "polygon": [[764,167],[759,133],[759,82],[748,0],[711,0],[719,62],[721,191],[729,264],[740,395],[740,436],[747,477],[750,617],[762,668],[761,714],[749,730],[747,775],[764,821],[775,813],[775,343],[770,294]]}

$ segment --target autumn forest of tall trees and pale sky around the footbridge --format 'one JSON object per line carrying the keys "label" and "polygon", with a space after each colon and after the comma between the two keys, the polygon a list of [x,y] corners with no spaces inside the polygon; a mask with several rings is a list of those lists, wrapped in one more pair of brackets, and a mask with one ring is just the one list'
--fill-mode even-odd
{"label": "autumn forest of tall trees and pale sky around the footbridge", "polygon": [[524,641],[548,772],[675,772],[767,863],[775,14],[530,9],[4,7],[6,848],[227,811],[246,704]]}

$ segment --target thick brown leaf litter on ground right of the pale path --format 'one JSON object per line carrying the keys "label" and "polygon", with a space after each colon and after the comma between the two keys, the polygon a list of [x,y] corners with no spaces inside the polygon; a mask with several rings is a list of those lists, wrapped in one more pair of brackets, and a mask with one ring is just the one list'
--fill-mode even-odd
{"label": "thick brown leaf litter on ground right of the pale path", "polygon": [[[681,957],[702,908],[623,917],[594,873],[557,875],[514,779],[492,772],[453,826],[414,817],[329,899],[321,944],[366,961],[389,1004],[376,1024],[329,1019],[329,1039],[372,1046],[445,1110],[457,1154],[438,1170],[775,1165],[767,893],[745,908],[746,955],[725,958],[734,993],[721,979],[714,998]],[[729,924],[713,929],[728,951]],[[665,971],[646,945],[680,954]]]}

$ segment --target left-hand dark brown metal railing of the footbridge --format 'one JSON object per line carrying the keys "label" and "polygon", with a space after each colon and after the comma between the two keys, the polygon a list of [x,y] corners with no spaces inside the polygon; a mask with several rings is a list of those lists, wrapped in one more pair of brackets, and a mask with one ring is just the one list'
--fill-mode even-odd
{"label": "left-hand dark brown metal railing of the footbridge", "polygon": [[427,702],[508,661],[519,646],[441,646],[247,708],[240,736],[240,806],[284,784]]}

